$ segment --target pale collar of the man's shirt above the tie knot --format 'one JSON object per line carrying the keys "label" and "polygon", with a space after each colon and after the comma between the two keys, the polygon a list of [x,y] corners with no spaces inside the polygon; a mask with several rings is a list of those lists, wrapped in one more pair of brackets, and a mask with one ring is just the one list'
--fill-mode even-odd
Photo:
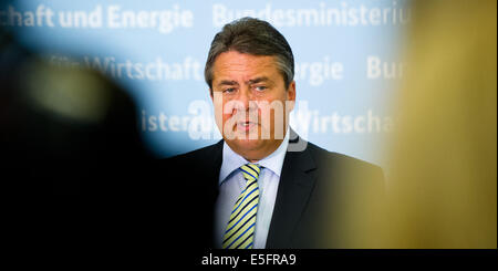
{"label": "pale collar of the man's shirt above the tie knot", "polygon": [[[289,146],[289,127],[286,132],[286,137],[283,137],[280,146],[271,153],[269,156],[259,160],[257,164],[270,169],[280,177],[283,166],[283,159],[286,158],[287,147]],[[229,175],[231,175],[239,167],[248,164],[249,161],[234,152],[230,146],[226,142],[224,142],[224,153],[222,153],[222,163],[221,169],[219,171],[219,185],[221,185]]]}

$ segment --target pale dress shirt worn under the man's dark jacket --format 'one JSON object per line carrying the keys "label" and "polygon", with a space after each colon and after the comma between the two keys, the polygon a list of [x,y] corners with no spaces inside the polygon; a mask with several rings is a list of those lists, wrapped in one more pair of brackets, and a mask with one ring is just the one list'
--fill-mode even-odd
{"label": "pale dress shirt worn under the man's dark jacket", "polygon": [[[269,156],[255,163],[263,168],[258,178],[259,204],[256,215],[255,249],[264,249],[274,200],[279,188],[283,159],[289,146],[289,129],[280,146]],[[224,144],[222,164],[219,173],[219,194],[215,209],[215,244],[221,248],[231,210],[240,192],[246,188],[246,179],[239,167],[248,164],[242,156],[235,153],[227,143]]]}

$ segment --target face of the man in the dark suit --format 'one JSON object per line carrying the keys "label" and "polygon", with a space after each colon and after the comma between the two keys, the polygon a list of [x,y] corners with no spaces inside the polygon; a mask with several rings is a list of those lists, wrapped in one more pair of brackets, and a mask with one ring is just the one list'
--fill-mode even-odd
{"label": "face of the man in the dark suit", "polygon": [[229,51],[219,54],[212,66],[211,98],[225,142],[256,161],[282,142],[295,101],[295,82],[286,90],[274,56]]}

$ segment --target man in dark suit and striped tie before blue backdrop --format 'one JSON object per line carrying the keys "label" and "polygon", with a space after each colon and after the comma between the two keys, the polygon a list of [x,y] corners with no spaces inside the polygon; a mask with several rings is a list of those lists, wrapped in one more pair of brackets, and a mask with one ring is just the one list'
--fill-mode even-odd
{"label": "man in dark suit and striped tie before blue backdrop", "polygon": [[[170,209],[185,232],[173,237],[180,247],[357,244],[344,232],[371,221],[382,169],[307,143],[289,127],[293,73],[291,48],[268,22],[243,18],[216,34],[205,77],[224,139],[164,163],[181,176],[175,190],[189,195],[186,208]],[[366,219],[350,219],[350,211]]]}

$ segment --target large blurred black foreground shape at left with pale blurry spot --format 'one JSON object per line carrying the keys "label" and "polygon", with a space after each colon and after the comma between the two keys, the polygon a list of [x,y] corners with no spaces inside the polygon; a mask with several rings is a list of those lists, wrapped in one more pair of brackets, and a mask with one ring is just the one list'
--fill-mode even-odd
{"label": "large blurred black foreground shape at left with pale blurry spot", "polygon": [[132,97],[98,72],[50,65],[0,30],[0,179],[15,195],[4,213],[14,246],[72,259],[160,238],[167,197]]}

